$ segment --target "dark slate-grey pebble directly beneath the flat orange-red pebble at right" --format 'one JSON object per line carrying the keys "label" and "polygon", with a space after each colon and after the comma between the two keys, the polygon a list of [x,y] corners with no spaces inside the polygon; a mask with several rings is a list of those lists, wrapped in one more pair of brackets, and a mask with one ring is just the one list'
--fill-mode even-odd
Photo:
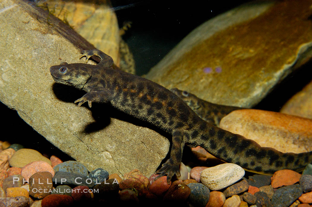
{"label": "dark slate-grey pebble directly beneath the flat orange-red pebble at right", "polygon": [[281,187],[275,191],[272,197],[272,205],[289,206],[297,200],[301,194],[302,188],[299,184]]}

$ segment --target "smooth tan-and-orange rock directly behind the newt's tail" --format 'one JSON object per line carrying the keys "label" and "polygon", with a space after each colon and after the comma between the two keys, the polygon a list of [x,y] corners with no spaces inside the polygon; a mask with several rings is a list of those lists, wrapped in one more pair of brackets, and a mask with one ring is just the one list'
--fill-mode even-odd
{"label": "smooth tan-and-orange rock directly behind the newt's tail", "polygon": [[223,117],[220,128],[286,153],[312,151],[312,120],[273,111],[243,109]]}

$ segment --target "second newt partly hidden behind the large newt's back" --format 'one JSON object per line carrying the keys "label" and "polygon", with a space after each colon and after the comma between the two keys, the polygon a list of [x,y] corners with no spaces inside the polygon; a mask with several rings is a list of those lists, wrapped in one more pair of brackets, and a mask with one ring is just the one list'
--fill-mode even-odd
{"label": "second newt partly hidden behind the large newt's back", "polygon": [[244,109],[236,106],[225,106],[204,101],[192,93],[181,91],[177,88],[171,89],[175,95],[179,96],[186,104],[203,120],[219,126],[221,119],[232,111]]}

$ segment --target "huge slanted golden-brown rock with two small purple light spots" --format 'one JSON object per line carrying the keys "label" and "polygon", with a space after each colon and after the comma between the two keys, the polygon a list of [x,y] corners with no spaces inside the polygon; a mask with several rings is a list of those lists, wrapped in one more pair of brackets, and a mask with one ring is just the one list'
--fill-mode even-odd
{"label": "huge slanted golden-brown rock with two small purple light spots", "polygon": [[254,106],[310,59],[310,5],[251,2],[218,15],[186,36],[146,78],[212,103]]}

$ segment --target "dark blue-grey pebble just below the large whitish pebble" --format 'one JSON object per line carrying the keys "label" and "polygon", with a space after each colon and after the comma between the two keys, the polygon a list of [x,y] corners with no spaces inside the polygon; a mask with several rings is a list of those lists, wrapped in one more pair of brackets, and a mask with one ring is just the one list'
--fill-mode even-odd
{"label": "dark blue-grey pebble just below the large whitish pebble", "polygon": [[187,186],[191,189],[189,202],[194,206],[206,206],[210,196],[209,189],[201,183],[190,183]]}

